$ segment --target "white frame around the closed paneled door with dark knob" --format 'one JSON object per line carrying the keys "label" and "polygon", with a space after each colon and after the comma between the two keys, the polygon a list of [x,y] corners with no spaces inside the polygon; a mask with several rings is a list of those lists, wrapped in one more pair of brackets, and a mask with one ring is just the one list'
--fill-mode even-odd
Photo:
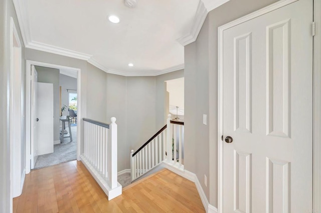
{"label": "white frame around the closed paneled door with dark knob", "polygon": [[[229,28],[236,25],[247,22],[251,19],[257,18],[298,0],[281,0],[258,11],[250,13],[244,17],[236,19],[218,28],[218,212],[223,212],[223,32]],[[313,10],[314,17],[313,20],[320,20],[321,12],[321,1],[314,0]],[[312,24],[312,23],[311,23]],[[317,23],[319,26],[319,23]],[[321,26],[320,26],[321,27]],[[319,27],[316,28],[316,34],[313,38],[313,208],[320,209],[318,204],[321,200],[321,82],[320,76],[320,38],[321,33]],[[318,79],[318,81],[316,81]],[[315,113],[314,113],[315,112]],[[318,201],[319,200],[319,201]]]}

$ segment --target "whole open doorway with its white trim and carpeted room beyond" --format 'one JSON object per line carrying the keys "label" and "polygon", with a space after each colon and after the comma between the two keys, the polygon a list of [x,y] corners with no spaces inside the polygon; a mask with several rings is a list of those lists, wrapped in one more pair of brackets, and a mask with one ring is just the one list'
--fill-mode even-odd
{"label": "whole open doorway with its white trim and carpeted room beyond", "polygon": [[27,67],[31,74],[29,85],[27,79],[27,111],[31,112],[27,118],[29,173],[31,169],[76,160],[79,156],[80,70],[28,60]]}

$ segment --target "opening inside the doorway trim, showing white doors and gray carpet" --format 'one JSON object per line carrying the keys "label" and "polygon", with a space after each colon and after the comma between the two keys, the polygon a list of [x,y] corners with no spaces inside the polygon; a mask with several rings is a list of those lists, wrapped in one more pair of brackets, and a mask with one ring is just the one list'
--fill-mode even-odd
{"label": "opening inside the doorway trim, showing white doors and gray carpet", "polygon": [[[34,169],[76,160],[77,72],[43,66],[35,66],[34,69],[37,73],[35,84],[38,84],[32,87],[38,89],[38,96],[34,97],[38,100],[34,119],[39,123],[34,137],[37,141],[34,143]],[[52,89],[49,90],[48,86]],[[44,119],[46,121],[42,121]],[[51,131],[53,137],[48,138]]]}

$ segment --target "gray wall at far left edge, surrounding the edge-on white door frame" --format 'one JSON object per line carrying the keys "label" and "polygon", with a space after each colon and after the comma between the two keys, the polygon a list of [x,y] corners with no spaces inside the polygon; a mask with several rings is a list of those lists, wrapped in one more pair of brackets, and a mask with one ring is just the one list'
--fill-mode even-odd
{"label": "gray wall at far left edge, surrounding the edge-on white door frame", "polygon": [[[22,81],[25,82],[24,44],[11,0],[0,1],[0,212],[10,211],[10,126],[9,126],[9,90],[10,88],[10,17],[13,17],[22,43]],[[24,83],[24,88],[25,83]],[[25,89],[24,89],[25,90]],[[26,97],[25,97],[26,98]],[[25,113],[25,109],[24,109]],[[26,115],[26,114],[25,114]],[[25,121],[23,136],[25,135]],[[25,142],[22,143],[22,167],[25,168]]]}

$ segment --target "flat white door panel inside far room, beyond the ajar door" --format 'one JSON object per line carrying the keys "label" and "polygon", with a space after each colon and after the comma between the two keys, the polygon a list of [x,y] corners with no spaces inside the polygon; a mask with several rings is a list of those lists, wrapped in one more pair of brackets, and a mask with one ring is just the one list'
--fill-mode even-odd
{"label": "flat white door panel inside far room, beyond the ajar door", "polygon": [[36,155],[54,152],[54,85],[37,82],[38,151]]}

